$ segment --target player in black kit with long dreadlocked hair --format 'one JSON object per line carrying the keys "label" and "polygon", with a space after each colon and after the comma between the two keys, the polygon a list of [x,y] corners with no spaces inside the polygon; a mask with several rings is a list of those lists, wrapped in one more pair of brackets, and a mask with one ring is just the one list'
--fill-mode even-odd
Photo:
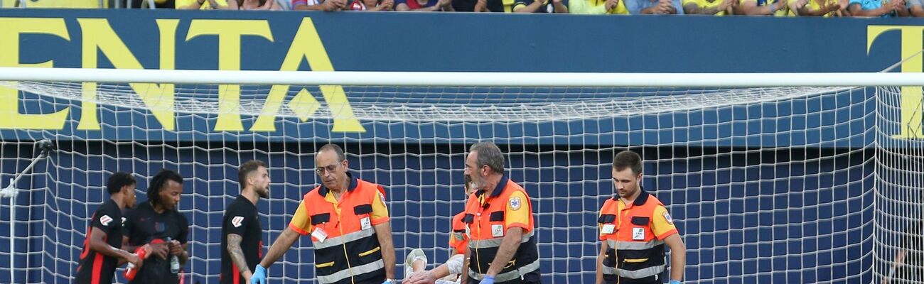
{"label": "player in black kit with long dreadlocked hair", "polygon": [[141,245],[150,245],[143,266],[135,279],[128,283],[179,283],[180,268],[189,259],[189,222],[176,210],[182,193],[183,177],[163,170],[151,178],[148,200],[126,214],[123,247],[134,250]]}

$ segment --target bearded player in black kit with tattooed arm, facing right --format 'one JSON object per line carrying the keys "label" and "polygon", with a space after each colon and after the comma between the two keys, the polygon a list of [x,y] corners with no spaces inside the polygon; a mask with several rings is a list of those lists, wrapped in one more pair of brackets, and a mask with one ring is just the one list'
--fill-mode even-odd
{"label": "bearded player in black kit with tattooed arm, facing right", "polygon": [[257,215],[257,202],[270,196],[270,175],[266,164],[250,160],[237,169],[240,195],[225,209],[222,220],[221,283],[250,283],[249,267],[260,264],[263,232]]}

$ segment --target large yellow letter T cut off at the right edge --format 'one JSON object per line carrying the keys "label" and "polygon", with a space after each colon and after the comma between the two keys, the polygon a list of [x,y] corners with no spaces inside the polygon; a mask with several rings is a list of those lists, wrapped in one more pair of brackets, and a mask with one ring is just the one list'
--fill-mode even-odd
{"label": "large yellow letter T cut off at the right edge", "polygon": [[[872,42],[876,41],[882,33],[889,30],[900,30],[902,33],[902,72],[921,72],[922,64],[921,55],[917,54],[921,48],[924,48],[922,42],[922,32],[924,26],[868,26],[867,27],[867,54]],[[901,132],[895,136],[898,138],[914,139],[924,138],[921,127],[921,87],[920,86],[902,86],[901,108],[902,121]]]}

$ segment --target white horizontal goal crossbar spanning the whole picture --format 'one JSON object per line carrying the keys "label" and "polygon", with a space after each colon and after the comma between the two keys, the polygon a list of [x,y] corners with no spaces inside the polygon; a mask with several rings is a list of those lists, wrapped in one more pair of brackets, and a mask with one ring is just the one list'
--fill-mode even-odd
{"label": "white horizontal goal crossbar spanning the whole picture", "polygon": [[887,87],[917,86],[924,82],[920,73],[885,72],[311,72],[0,67],[0,74],[7,81],[419,87]]}

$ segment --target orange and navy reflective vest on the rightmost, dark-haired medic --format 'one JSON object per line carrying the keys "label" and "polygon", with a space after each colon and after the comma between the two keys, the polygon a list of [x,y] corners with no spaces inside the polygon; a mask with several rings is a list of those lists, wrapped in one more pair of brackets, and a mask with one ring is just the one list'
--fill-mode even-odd
{"label": "orange and navy reflective vest on the rightmost, dark-haired medic", "polygon": [[664,242],[651,231],[654,209],[662,206],[653,195],[642,191],[636,200],[619,210],[622,200],[608,199],[601,208],[600,226],[614,225],[614,231],[603,235],[608,246],[602,272],[621,278],[646,278],[662,273]]}

